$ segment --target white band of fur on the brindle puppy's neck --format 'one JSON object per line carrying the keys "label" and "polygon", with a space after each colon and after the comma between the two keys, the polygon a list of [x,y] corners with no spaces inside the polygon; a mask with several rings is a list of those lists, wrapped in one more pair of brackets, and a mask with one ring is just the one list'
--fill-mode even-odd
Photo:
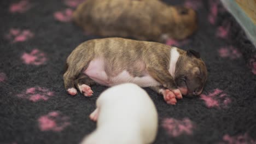
{"label": "white band of fur on the brindle puppy's neck", "polygon": [[179,58],[179,52],[177,51],[177,47],[172,47],[170,52],[171,52],[171,58],[170,58],[169,72],[172,75],[172,77],[174,77],[176,63]]}

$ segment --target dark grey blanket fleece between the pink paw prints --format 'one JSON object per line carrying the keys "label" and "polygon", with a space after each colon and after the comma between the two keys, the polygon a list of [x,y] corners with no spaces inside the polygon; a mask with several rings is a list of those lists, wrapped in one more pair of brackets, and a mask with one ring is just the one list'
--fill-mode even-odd
{"label": "dark grey blanket fleece between the pink paw prints", "polygon": [[[63,86],[63,67],[67,56],[77,45],[101,37],[84,34],[73,22],[56,20],[56,11],[69,8],[64,1],[31,0],[32,7],[26,12],[10,13],[10,5],[17,2],[0,2],[0,73],[5,74],[5,80],[0,82],[0,143],[79,143],[95,129],[96,124],[88,116],[95,109],[98,95],[107,87],[92,86],[94,96],[90,98],[82,94],[72,97]],[[179,0],[165,2],[184,3]],[[167,105],[161,95],[146,88],[159,113],[159,131],[155,143],[232,143],[223,140],[224,135],[247,135],[247,138],[237,138],[237,141],[255,142],[256,76],[250,69],[255,47],[227,11],[218,12],[214,25],[208,22],[211,6],[208,1],[202,1],[201,7],[197,9],[199,29],[189,38],[189,43],[179,47],[201,53],[208,69],[203,94],[219,88],[228,95],[231,103],[226,107],[220,105],[209,108],[200,97],[196,97],[183,98],[176,105]],[[218,8],[223,9],[220,3]],[[227,39],[216,37],[217,28],[223,21],[230,23]],[[10,28],[30,29],[34,37],[11,43],[5,38]],[[241,52],[240,58],[219,56],[219,47],[230,45]],[[29,53],[35,48],[46,53],[45,64],[27,65],[22,62],[22,53]],[[30,87],[47,88],[54,92],[54,96],[35,103],[17,97]],[[41,131],[37,119],[51,111],[68,116],[71,124],[59,132]],[[165,118],[189,118],[195,125],[193,134],[177,137],[168,135],[162,127]]]}

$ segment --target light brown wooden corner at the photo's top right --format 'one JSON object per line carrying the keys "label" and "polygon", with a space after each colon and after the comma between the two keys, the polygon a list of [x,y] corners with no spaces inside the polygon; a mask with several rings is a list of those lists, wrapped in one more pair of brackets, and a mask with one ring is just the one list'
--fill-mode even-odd
{"label": "light brown wooden corner at the photo's top right", "polygon": [[236,0],[236,3],[256,25],[256,0]]}

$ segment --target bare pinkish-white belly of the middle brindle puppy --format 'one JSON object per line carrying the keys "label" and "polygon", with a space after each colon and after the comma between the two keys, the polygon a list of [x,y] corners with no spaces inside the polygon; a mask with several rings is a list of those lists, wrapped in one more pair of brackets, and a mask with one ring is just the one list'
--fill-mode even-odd
{"label": "bare pinkish-white belly of the middle brindle puppy", "polygon": [[151,76],[132,77],[126,70],[117,76],[108,76],[104,70],[104,61],[101,58],[94,59],[90,62],[88,68],[84,71],[90,79],[104,86],[114,86],[121,83],[132,82],[141,87],[158,86],[160,83],[155,81]]}

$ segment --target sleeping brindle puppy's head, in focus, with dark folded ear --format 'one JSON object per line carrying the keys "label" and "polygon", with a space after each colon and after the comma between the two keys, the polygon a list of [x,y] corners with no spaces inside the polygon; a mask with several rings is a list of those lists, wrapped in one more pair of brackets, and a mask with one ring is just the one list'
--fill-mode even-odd
{"label": "sleeping brindle puppy's head, in focus, with dark folded ear", "polygon": [[176,63],[174,81],[183,95],[193,96],[202,93],[207,79],[205,63],[194,50],[184,52]]}

